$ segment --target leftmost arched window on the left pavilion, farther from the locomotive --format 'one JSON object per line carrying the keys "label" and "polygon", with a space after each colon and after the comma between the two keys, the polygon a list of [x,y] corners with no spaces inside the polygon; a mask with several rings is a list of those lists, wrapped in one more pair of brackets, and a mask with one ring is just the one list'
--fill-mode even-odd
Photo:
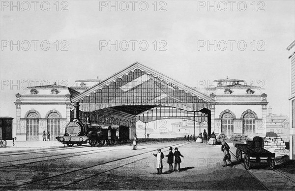
{"label": "leftmost arched window on the left pavilion, farther from the locomotive", "polygon": [[39,115],[36,112],[30,112],[27,115],[27,141],[39,140]]}

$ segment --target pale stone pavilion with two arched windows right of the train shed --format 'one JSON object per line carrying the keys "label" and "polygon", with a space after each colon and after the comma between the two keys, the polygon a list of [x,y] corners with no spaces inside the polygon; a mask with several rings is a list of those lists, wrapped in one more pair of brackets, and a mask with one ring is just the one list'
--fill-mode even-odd
{"label": "pale stone pavilion with two arched windows right of the train shed", "polygon": [[228,137],[236,134],[266,136],[268,102],[260,87],[228,77],[214,82],[215,87],[206,88],[211,98],[211,131],[224,132]]}

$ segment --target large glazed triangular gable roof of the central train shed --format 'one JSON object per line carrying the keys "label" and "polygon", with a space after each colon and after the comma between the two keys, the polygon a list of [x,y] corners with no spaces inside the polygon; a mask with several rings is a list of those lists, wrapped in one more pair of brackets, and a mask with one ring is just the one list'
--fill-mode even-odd
{"label": "large glazed triangular gable roof of the central train shed", "polygon": [[140,63],[73,97],[72,102],[77,101],[83,112],[113,108],[147,122],[163,118],[202,122],[210,113],[209,96]]}

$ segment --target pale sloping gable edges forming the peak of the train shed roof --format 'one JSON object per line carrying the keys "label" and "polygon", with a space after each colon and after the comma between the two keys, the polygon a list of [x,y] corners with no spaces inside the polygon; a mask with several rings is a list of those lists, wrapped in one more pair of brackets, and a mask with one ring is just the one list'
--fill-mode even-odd
{"label": "pale sloping gable edges forming the peak of the train shed roof", "polygon": [[[110,76],[109,78],[105,79],[104,81],[90,87],[89,89],[85,90],[84,92],[82,92],[81,94],[75,96],[72,101],[78,101],[80,100],[81,98],[85,97],[85,96],[89,96],[89,94],[91,94],[92,92],[95,92],[96,90],[98,89],[101,89],[103,86],[105,85],[109,85],[111,82],[113,81],[116,81],[116,79],[118,78],[121,78],[124,74],[127,74],[129,71],[133,71],[135,69],[141,69],[145,72],[147,72],[148,74],[152,74],[153,76],[161,79],[161,80],[164,80],[170,84],[173,84],[175,86],[177,86],[179,89],[183,89],[185,90],[186,92],[189,92],[191,93],[193,96],[198,96],[202,99],[204,99],[205,101],[209,102],[210,101],[210,97],[207,96],[206,94],[202,93],[202,92],[199,92],[197,90],[195,90],[194,88],[192,87],[189,87],[181,82],[178,82],[177,80],[171,78],[171,77],[168,77],[167,75],[165,74],[162,74],[154,69],[151,69],[150,67],[144,65],[144,64],[140,64],[138,62],[134,63],[134,64],[131,64],[129,65],[128,67],[118,71],[117,73],[113,74],[112,76]],[[133,84],[133,86],[136,85],[136,84]],[[129,88],[132,88],[132,86],[129,86]]]}

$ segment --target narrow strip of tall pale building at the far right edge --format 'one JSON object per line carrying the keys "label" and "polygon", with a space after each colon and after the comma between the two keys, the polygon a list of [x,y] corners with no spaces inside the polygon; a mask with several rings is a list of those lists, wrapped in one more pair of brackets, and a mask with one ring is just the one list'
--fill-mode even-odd
{"label": "narrow strip of tall pale building at the far right edge", "polygon": [[295,40],[288,46],[290,75],[290,159],[295,159]]}

